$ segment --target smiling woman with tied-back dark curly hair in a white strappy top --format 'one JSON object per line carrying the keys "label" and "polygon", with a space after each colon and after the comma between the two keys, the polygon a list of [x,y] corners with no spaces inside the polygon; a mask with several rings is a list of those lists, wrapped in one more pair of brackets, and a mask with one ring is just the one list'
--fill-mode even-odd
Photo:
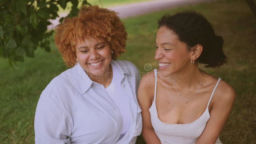
{"label": "smiling woman with tied-back dark curly hair in a white strappy top", "polygon": [[159,68],[143,77],[138,90],[144,140],[148,144],[220,144],[218,137],[235,91],[199,69],[198,63],[215,68],[226,62],[222,37],[196,12],[164,15],[158,24],[155,59]]}

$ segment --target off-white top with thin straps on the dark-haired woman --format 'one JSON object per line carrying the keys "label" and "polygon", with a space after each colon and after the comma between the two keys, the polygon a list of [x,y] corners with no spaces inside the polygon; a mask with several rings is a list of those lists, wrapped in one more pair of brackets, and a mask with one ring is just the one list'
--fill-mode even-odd
{"label": "off-white top with thin straps on the dark-haired woman", "polygon": [[[213,93],[219,84],[221,78],[219,78],[217,84],[215,85],[210,100],[207,104],[207,107],[204,113],[195,121],[188,123],[188,124],[166,124],[162,122],[158,118],[157,110],[156,110],[156,84],[157,84],[157,70],[155,71],[155,95],[154,101],[151,107],[149,108],[151,123],[156,132],[156,135],[160,139],[162,144],[195,144],[197,138],[202,134],[204,131],[204,127],[211,117],[209,114],[209,104],[212,100]],[[219,138],[216,144],[221,144]]]}

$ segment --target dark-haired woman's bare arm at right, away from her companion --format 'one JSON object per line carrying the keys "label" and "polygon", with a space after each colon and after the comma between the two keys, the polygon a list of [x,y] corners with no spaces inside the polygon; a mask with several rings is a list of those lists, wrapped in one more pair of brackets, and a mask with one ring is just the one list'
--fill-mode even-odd
{"label": "dark-haired woman's bare arm at right, away from her companion", "polygon": [[210,111],[211,118],[208,120],[203,133],[197,139],[196,144],[215,144],[218,136],[228,121],[228,116],[233,106],[236,93],[230,85],[221,81],[214,96],[214,99],[212,98],[213,104]]}

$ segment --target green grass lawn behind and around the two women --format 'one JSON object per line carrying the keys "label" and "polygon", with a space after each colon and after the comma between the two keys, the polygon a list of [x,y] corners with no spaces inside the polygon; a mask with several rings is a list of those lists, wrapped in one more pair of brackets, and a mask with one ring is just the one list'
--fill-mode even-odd
{"label": "green grass lawn behind and around the two women", "polygon": [[[157,20],[164,13],[192,9],[203,13],[218,35],[223,36],[228,63],[206,72],[221,77],[236,90],[236,101],[220,140],[224,144],[256,143],[256,18],[243,0],[218,0],[124,19],[127,52],[120,59],[132,61],[142,72],[154,59]],[[34,143],[36,104],[46,85],[68,69],[52,44],[52,52],[38,49],[36,58],[25,58],[18,68],[0,58],[0,143]],[[139,137],[137,144],[144,144]]]}

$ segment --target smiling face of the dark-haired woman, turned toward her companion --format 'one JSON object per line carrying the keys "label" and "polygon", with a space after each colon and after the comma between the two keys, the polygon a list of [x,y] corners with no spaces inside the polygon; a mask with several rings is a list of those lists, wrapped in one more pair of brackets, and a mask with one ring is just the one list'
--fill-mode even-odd
{"label": "smiling face of the dark-haired woman, turned toward her companion", "polygon": [[176,73],[190,62],[190,52],[187,44],[181,42],[178,36],[166,26],[159,28],[156,34],[156,55],[162,74]]}

